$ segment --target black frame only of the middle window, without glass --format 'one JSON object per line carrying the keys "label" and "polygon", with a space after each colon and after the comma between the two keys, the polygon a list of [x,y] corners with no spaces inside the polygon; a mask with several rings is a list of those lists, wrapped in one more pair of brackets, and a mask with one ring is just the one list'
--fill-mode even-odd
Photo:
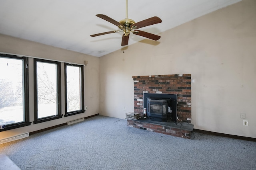
{"label": "black frame only of the middle window, without glass", "polygon": [[[38,118],[38,94],[37,94],[37,62],[42,62],[42,63],[51,63],[51,64],[56,64],[57,69],[56,69],[56,82],[57,82],[57,115],[51,115],[48,117],[42,117]],[[61,114],[61,64],[58,61],[50,61],[50,60],[45,60],[45,59],[37,59],[34,58],[34,124],[36,123],[42,123],[46,121],[51,121],[54,119],[60,119],[62,118]]]}

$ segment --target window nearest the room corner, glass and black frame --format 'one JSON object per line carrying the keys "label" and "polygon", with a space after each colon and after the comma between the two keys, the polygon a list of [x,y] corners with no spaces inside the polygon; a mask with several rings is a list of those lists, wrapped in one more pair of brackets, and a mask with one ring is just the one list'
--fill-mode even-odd
{"label": "window nearest the room corner, glass and black frame", "polygon": [[65,63],[65,116],[84,113],[83,66]]}

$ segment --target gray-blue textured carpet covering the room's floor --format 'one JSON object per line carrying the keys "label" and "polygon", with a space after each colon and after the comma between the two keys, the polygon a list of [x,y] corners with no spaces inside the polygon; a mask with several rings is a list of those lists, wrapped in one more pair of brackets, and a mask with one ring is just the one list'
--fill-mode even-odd
{"label": "gray-blue textured carpet covering the room's floor", "polygon": [[194,133],[182,139],[96,116],[0,145],[22,170],[248,170],[256,142]]}

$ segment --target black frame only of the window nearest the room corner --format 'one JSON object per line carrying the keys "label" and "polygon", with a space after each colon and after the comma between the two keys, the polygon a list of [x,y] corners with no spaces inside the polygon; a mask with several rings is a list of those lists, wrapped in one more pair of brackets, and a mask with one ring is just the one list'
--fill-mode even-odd
{"label": "black frame only of the window nearest the room corner", "polygon": [[[70,63],[64,63],[64,75],[65,75],[65,115],[64,117],[67,116],[71,116],[71,115],[76,115],[79,113],[84,113],[84,66],[83,65],[79,65],[79,64],[70,64]],[[76,110],[76,111],[70,111],[67,112],[67,66],[78,66],[80,67],[80,80],[81,80],[81,104],[82,107],[80,110]]]}

